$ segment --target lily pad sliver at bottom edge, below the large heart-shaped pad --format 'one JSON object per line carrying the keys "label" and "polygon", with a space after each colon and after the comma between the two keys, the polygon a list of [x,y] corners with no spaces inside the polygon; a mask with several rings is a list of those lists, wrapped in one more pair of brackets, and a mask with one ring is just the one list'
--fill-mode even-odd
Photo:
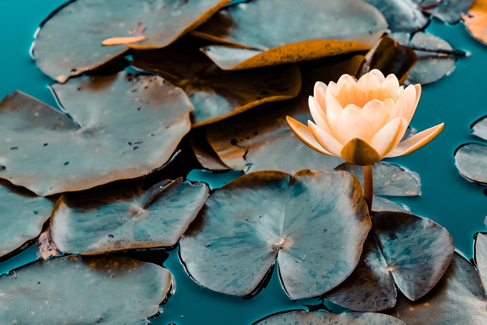
{"label": "lily pad sliver at bottom edge, below the large heart-shaped pad", "polygon": [[389,315],[378,313],[360,313],[356,311],[334,314],[324,311],[309,312],[292,310],[267,316],[253,325],[404,325],[404,322]]}

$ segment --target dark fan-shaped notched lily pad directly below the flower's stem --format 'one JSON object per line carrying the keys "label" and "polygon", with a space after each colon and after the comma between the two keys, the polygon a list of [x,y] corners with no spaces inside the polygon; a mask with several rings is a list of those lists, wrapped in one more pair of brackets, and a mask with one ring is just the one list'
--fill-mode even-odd
{"label": "dark fan-shaped notched lily pad directly below the flower's stem", "polygon": [[378,311],[395,305],[397,286],[418,300],[441,279],[454,249],[448,231],[429,219],[377,212],[357,268],[326,298],[350,309]]}

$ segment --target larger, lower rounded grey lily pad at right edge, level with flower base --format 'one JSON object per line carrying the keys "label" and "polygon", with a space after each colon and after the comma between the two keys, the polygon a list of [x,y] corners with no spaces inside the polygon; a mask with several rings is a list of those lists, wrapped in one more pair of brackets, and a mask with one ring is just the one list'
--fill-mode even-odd
{"label": "larger, lower rounded grey lily pad at right edge, level with flower base", "polygon": [[455,166],[463,177],[487,185],[487,145],[464,143],[453,155]]}

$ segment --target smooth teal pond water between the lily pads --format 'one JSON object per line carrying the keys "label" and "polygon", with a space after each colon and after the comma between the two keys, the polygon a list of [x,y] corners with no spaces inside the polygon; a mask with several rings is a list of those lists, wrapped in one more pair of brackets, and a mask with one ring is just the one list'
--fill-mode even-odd
{"label": "smooth teal pond water between the lily pads", "polygon": [[[52,80],[37,69],[29,56],[29,48],[38,24],[63,2],[0,1],[3,18],[0,56],[4,71],[0,81],[1,97],[19,89],[56,107],[47,88]],[[455,246],[471,258],[473,234],[486,230],[487,197],[483,187],[460,176],[454,166],[453,152],[462,143],[482,142],[470,135],[469,126],[474,120],[487,115],[487,98],[484,95],[487,46],[471,38],[461,24],[447,26],[433,20],[427,31],[444,38],[454,48],[471,52],[471,56],[460,58],[450,76],[423,88],[412,127],[421,131],[445,122],[445,129],[426,147],[405,157],[389,160],[418,172],[423,184],[422,196],[395,200],[407,204],[412,213],[430,218],[447,228]],[[211,178],[211,175],[204,176]],[[0,263],[0,274],[35,259],[35,250],[27,249]],[[246,300],[195,284],[180,264],[177,248],[169,252],[164,266],[176,278],[176,292],[163,306],[164,313],[151,319],[151,324],[251,324],[277,311],[320,303],[318,299],[290,300],[281,289],[277,269],[274,269],[267,287],[256,297]],[[331,304],[327,306],[335,308]]]}

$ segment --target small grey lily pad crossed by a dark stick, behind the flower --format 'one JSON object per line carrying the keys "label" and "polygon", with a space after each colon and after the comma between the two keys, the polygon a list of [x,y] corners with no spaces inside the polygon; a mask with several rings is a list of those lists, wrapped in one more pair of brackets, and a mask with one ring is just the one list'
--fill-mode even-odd
{"label": "small grey lily pad crossed by a dark stick, behind the flower", "polygon": [[412,47],[416,53],[417,62],[406,78],[406,84],[426,85],[449,75],[455,68],[453,56],[433,52],[453,51],[450,44],[442,38],[423,32],[415,33],[411,40],[409,40],[409,33],[394,33],[390,37],[403,45]]}

